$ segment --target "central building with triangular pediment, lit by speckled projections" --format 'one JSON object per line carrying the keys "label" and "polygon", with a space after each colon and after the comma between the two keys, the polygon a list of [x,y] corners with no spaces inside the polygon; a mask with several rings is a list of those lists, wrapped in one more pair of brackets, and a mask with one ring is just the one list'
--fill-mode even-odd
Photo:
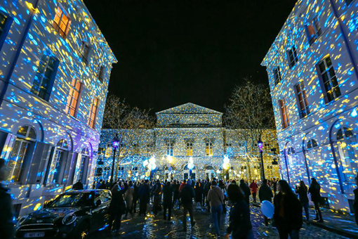
{"label": "central building with triangular pediment, lit by speckled projections", "polygon": [[[153,129],[102,129],[95,179],[110,179],[116,134],[122,138],[114,167],[116,178],[260,179],[257,146],[244,150],[236,131],[223,127],[223,113],[186,103],[156,115]],[[279,165],[272,150],[278,148],[275,131],[266,130],[262,139],[265,176],[277,178]]]}

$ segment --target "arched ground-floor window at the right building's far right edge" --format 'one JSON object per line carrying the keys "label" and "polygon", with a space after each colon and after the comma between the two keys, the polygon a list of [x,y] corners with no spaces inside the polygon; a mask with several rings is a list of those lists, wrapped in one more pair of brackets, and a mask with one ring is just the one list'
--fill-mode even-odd
{"label": "arched ground-floor window at the right building's far right edge", "polygon": [[343,176],[345,181],[354,183],[357,175],[357,138],[354,131],[349,127],[340,127],[336,134],[338,144],[338,154],[342,164]]}

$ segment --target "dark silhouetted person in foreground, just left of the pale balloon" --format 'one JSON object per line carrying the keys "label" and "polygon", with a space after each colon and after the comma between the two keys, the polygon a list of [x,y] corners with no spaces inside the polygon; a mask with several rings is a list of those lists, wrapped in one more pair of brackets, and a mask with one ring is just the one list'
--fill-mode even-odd
{"label": "dark silhouetted person in foreground, just left of the pale balloon", "polygon": [[227,196],[232,202],[230,209],[230,224],[227,233],[232,234],[232,239],[252,239],[253,231],[250,219],[250,208],[241,188],[236,184],[227,189]]}

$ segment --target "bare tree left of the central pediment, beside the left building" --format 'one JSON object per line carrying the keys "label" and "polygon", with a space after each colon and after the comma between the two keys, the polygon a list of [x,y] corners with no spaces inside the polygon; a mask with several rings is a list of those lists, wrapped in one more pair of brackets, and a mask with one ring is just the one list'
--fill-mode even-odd
{"label": "bare tree left of the central pediment, beside the left building", "polygon": [[[154,117],[150,115],[150,110],[131,107],[119,97],[111,95],[105,105],[103,125],[109,132],[107,136],[117,136],[119,141],[114,174],[118,175],[117,170],[121,161],[129,156],[134,158],[140,153],[140,146],[147,138],[147,129],[154,127]],[[131,164],[133,163],[132,161]]]}

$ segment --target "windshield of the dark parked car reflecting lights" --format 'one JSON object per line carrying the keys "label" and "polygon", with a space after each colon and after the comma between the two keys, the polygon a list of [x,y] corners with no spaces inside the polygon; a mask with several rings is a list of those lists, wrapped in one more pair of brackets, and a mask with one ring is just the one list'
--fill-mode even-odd
{"label": "windshield of the dark parked car reflecting lights", "polygon": [[87,207],[93,205],[91,193],[64,193],[55,198],[48,207]]}

